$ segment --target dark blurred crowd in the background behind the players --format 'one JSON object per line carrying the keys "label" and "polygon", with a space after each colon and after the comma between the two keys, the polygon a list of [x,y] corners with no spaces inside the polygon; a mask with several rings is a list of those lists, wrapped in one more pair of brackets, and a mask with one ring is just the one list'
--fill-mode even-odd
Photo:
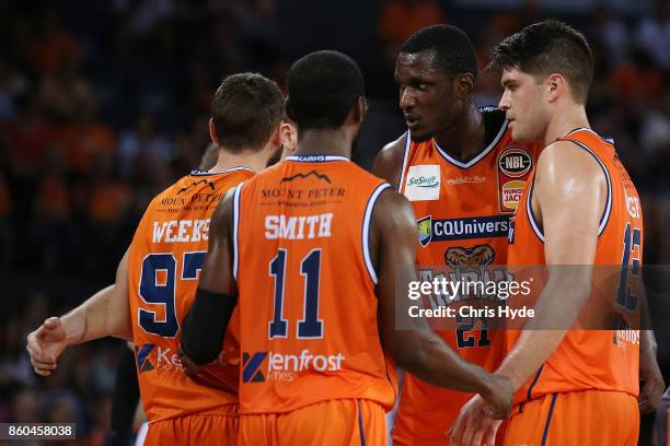
{"label": "dark blurred crowd in the background behind the players", "polygon": [[[0,314],[0,422],[74,420],[92,444],[102,442],[117,344],[78,348],[54,377],[37,379],[25,334],[113,281],[149,200],[199,164],[209,143],[209,101],[226,74],[254,70],[281,85],[305,49],[367,46],[372,57],[353,56],[372,96],[357,154],[369,167],[403,131],[393,63],[413,32],[455,24],[485,67],[503,37],[553,16],[539,1],[503,12],[377,1],[361,7],[370,9],[374,35],[361,42],[354,27],[334,38],[332,30],[309,26],[290,3],[0,0],[0,278],[11,284],[4,300],[13,302]],[[340,19],[358,3],[345,1]],[[559,17],[581,30],[594,51],[589,117],[616,141],[640,190],[645,261],[668,263],[670,10],[660,1],[634,15],[603,7]],[[302,23],[299,43],[286,38]],[[477,103],[497,104],[499,94],[498,79],[483,72]],[[50,284],[63,280],[72,292],[55,300]]]}

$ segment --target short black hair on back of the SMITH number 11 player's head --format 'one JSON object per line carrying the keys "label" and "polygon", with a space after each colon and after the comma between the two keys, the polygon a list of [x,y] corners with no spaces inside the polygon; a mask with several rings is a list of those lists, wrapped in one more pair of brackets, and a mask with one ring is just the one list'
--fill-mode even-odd
{"label": "short black hair on back of the SMITH number 11 player's head", "polygon": [[300,130],[337,129],[366,87],[358,64],[338,51],[311,52],[288,72],[288,116]]}

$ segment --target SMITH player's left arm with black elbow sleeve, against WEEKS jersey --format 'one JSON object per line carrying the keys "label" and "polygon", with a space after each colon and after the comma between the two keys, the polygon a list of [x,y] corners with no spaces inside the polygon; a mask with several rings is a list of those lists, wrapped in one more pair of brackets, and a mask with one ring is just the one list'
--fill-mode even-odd
{"label": "SMITH player's left arm with black elbow sleeve, against WEEKS jersey", "polygon": [[182,362],[204,365],[221,352],[228,322],[238,305],[233,277],[232,214],[233,190],[229,190],[209,224],[209,248],[193,307],[182,322]]}

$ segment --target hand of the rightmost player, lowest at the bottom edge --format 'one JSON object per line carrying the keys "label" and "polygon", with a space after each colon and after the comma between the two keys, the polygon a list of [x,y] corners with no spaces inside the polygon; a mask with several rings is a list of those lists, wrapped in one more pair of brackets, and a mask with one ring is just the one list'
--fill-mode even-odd
{"label": "hand of the rightmost player, lowest at the bottom edge", "polygon": [[451,446],[495,446],[496,433],[503,423],[487,415],[492,410],[486,401],[475,395],[459,412],[453,427],[448,433]]}

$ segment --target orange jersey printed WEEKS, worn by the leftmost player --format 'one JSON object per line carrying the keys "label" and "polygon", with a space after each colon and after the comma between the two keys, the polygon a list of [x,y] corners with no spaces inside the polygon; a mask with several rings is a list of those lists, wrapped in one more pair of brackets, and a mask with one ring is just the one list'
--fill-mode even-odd
{"label": "orange jersey printed WEEKS, worn by the leftmost player", "polygon": [[183,372],[177,337],[195,297],[211,215],[228,189],[253,175],[245,167],[220,174],[194,171],[151,201],[135,233],[128,263],[130,317],[149,421],[236,412],[230,406],[238,402],[234,330],[226,337],[227,360],[220,356],[195,379]]}

